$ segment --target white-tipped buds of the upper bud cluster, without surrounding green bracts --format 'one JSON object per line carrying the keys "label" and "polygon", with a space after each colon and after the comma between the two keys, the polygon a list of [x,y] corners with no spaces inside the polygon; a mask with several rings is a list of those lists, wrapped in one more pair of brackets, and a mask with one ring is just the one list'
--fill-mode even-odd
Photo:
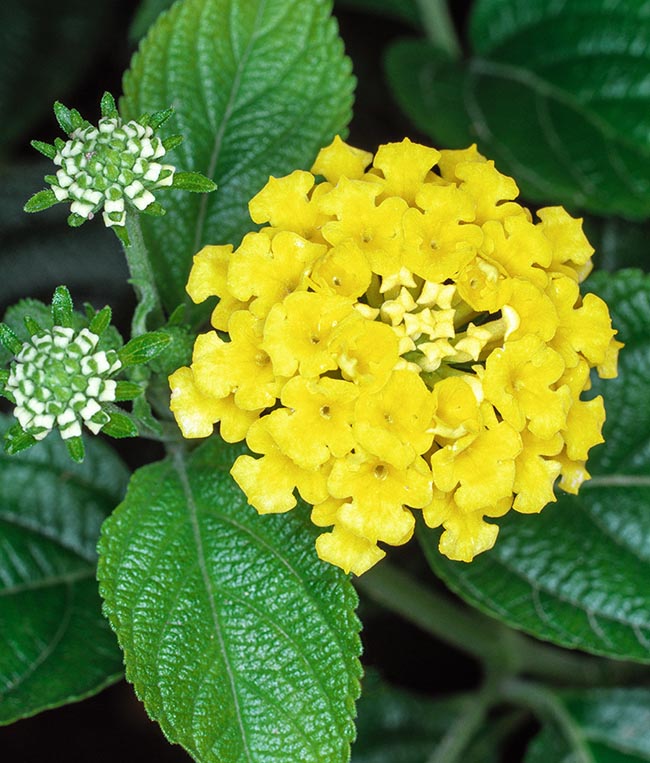
{"label": "white-tipped buds of the upper bud cluster, without surrounding green bracts", "polygon": [[104,117],[72,132],[53,159],[61,169],[48,179],[57,201],[72,201],[73,214],[89,220],[103,206],[105,225],[123,226],[125,200],[143,211],[153,190],[172,185],[174,167],[157,161],[165,153],[149,125]]}

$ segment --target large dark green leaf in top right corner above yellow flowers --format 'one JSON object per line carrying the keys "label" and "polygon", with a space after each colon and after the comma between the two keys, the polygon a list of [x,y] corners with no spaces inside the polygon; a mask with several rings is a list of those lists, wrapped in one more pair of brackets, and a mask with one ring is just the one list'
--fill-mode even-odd
{"label": "large dark green leaf in top right corner above yellow flowers", "polygon": [[650,15],[644,0],[479,0],[476,57],[426,43],[388,58],[398,101],[446,147],[477,142],[525,197],[650,214]]}

